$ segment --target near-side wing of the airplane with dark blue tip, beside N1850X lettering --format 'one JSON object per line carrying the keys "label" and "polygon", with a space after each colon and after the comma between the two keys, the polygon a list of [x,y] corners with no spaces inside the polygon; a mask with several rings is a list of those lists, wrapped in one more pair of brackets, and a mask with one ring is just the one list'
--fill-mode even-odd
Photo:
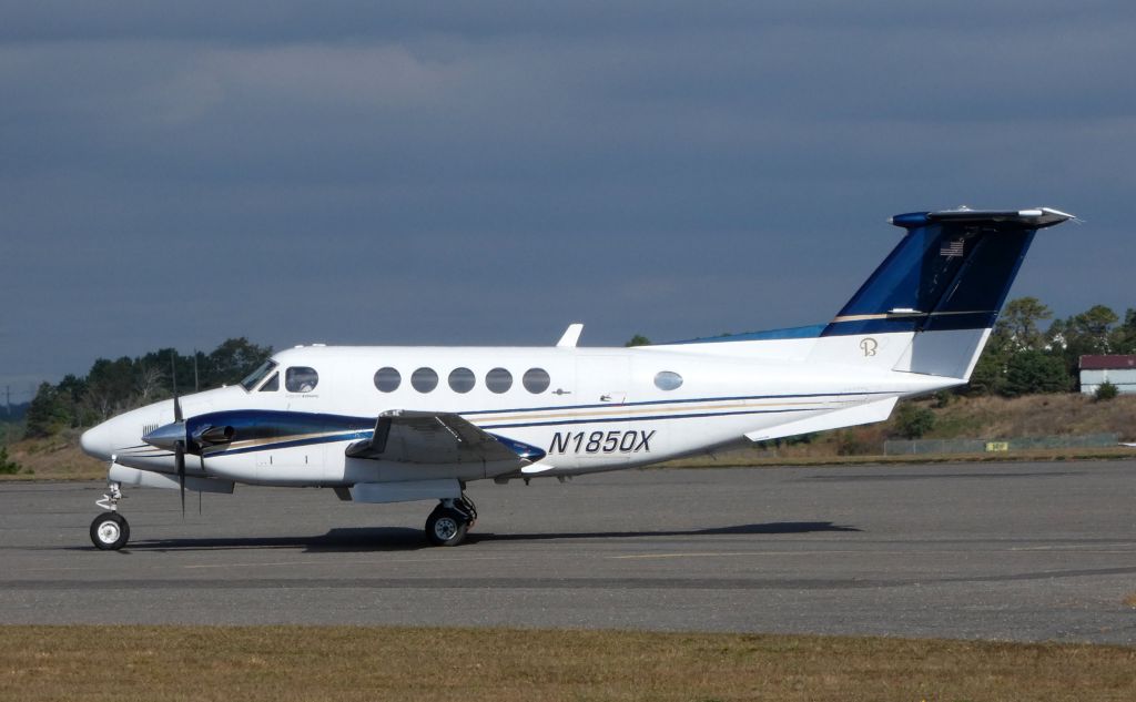
{"label": "near-side wing of the airplane with dark blue tip, beside N1850X lettering", "polygon": [[400,463],[482,463],[544,458],[536,446],[484,432],[450,412],[392,410],[375,423],[375,434],[346,448],[350,458]]}

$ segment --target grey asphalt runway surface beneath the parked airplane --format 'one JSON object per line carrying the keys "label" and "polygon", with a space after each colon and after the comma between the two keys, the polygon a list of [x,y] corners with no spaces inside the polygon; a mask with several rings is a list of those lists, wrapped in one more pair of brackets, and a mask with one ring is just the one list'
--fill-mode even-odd
{"label": "grey asphalt runway surface beneath the parked airplane", "polygon": [[402,624],[1136,643],[1136,460],[633,470],[432,505],[0,485],[0,622]]}

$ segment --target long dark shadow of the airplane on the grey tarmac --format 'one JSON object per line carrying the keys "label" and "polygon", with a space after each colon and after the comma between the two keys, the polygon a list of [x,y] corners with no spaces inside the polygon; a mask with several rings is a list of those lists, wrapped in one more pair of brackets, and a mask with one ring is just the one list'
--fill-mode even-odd
{"label": "long dark shadow of the airplane on the grey tarmac", "polygon": [[[705,529],[657,529],[634,532],[551,532],[544,534],[494,534],[473,530],[467,544],[500,542],[542,542],[559,540],[651,538],[658,536],[729,536],[729,535],[787,535],[817,532],[860,532],[857,527],[832,521],[772,521],[743,524]],[[279,537],[223,537],[223,538],[165,538],[132,542],[123,553],[131,551],[212,551],[229,549],[302,549],[306,552],[353,551],[416,551],[432,549],[420,529],[408,527],[336,528],[321,536]]]}

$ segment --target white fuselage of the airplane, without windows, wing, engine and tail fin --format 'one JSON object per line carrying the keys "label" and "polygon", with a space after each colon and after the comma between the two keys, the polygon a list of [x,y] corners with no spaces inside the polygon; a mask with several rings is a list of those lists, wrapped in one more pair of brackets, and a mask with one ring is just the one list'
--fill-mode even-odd
{"label": "white fuselage of the airplane, without windows, wing, engine and tail fin", "polygon": [[[701,453],[744,441],[747,434],[766,433],[769,438],[786,435],[777,427],[805,420],[819,426],[825,416],[837,411],[849,417],[857,409],[867,409],[866,417],[882,411],[886,418],[900,396],[962,383],[957,378],[879,370],[875,365],[857,367],[857,361],[864,358],[855,346],[850,351],[850,365],[807,363],[811,341],[629,349],[290,349],[273,357],[278,365],[273,373],[314,369],[318,382],[309,392],[289,392],[283,382],[276,390],[234,385],[182,398],[184,413],[193,417],[227,410],[268,410],[358,421],[345,423],[342,431],[312,433],[325,436],[298,436],[278,445],[265,442],[207,453],[204,471],[191,458],[186,473],[240,483],[310,486],[453,476],[449,466],[384,465],[344,454],[349,444],[370,435],[375,417],[395,409],[453,412],[488,433],[536,446],[546,454],[537,463],[541,470],[536,475],[594,473]],[[399,373],[395,390],[382,392],[376,387],[375,375],[381,368]],[[410,382],[420,368],[432,369],[437,376],[429,392],[416,390]],[[451,387],[449,378],[456,369],[470,371],[470,390],[457,392]],[[508,390],[493,392],[486,386],[486,376],[494,369],[503,369],[511,377]],[[548,374],[546,387],[526,388],[524,377],[532,369]],[[496,374],[503,375],[500,370]],[[680,378],[682,384],[662,390],[655,383],[659,374],[674,374],[668,377]],[[173,401],[157,402],[92,429],[84,436],[84,448],[98,456],[114,456],[119,466],[170,474],[170,452],[144,444],[141,436],[173,421]],[[516,470],[508,467],[494,475],[492,469],[487,474],[484,466],[467,466],[456,477],[493,478]]]}

